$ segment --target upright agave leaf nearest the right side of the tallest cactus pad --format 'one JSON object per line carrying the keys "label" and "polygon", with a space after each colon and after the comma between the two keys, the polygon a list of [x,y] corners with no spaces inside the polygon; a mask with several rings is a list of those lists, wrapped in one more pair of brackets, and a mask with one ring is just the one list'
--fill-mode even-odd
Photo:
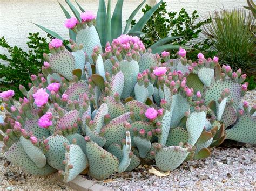
{"label": "upright agave leaf nearest the right side of the tallest cactus pad", "polygon": [[98,31],[102,46],[105,46],[106,44],[106,5],[104,0],[99,0],[96,29]]}

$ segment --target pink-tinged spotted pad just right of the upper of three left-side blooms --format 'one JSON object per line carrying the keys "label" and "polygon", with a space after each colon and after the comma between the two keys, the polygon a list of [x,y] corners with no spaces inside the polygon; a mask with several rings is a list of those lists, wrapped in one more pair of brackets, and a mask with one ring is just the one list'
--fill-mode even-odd
{"label": "pink-tinged spotted pad just right of the upper of three left-side blooms", "polygon": [[69,88],[65,91],[65,94],[69,96],[69,100],[78,100],[80,94],[86,93],[88,96],[88,84],[84,80],[80,80],[77,83],[73,83],[69,86]]}

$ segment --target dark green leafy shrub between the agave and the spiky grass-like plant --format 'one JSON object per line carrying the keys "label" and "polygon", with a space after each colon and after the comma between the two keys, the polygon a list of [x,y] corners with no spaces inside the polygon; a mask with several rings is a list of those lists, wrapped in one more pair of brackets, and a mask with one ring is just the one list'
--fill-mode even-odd
{"label": "dark green leafy shrub between the agave and the spiky grass-like plant", "polygon": [[[159,8],[154,12],[153,16],[149,19],[146,25],[143,27],[142,32],[146,33],[143,37],[141,37],[146,48],[149,48],[151,45],[156,43],[158,40],[163,39],[167,36],[183,36],[182,38],[176,39],[174,41],[169,41],[169,43],[173,43],[174,45],[181,46],[190,46],[192,48],[197,48],[196,53],[205,52],[206,49],[210,48],[210,44],[208,41],[205,42],[197,42],[194,44],[192,39],[196,39],[199,37],[201,33],[200,27],[211,23],[211,18],[207,18],[203,21],[198,22],[198,13],[197,11],[193,11],[192,15],[188,15],[187,11],[182,8],[179,13],[177,12],[168,12],[166,10],[166,2],[161,3]],[[145,14],[148,10],[151,9],[150,5],[146,5],[142,12]],[[136,24],[135,20],[133,20],[132,25]],[[177,51],[173,50],[170,53],[175,54]],[[193,52],[193,51],[192,51]],[[192,53],[189,57],[190,59],[196,59],[197,54]],[[195,56],[194,56],[195,55]],[[212,55],[209,55],[212,56]]]}

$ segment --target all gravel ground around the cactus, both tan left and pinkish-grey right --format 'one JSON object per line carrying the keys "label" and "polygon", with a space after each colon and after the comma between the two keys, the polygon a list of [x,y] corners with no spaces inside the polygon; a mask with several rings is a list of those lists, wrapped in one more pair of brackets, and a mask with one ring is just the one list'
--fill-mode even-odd
{"label": "all gravel ground around the cactus, both tan left and pinkish-grey right", "polygon": [[[256,90],[248,91],[244,100],[256,104]],[[5,111],[4,111],[5,112]],[[0,111],[0,115],[4,116]],[[0,142],[0,150],[3,143]],[[115,190],[170,189],[256,189],[256,148],[214,148],[211,157],[188,161],[168,176],[149,174],[151,166],[136,171],[112,175],[96,181]],[[37,177],[23,172],[6,161],[0,153],[0,189],[60,190],[71,188],[54,176]]]}

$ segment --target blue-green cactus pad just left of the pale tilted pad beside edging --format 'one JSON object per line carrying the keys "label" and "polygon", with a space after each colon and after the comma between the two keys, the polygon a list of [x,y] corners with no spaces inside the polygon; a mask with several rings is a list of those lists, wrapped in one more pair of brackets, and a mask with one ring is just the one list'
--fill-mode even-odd
{"label": "blue-green cactus pad just left of the pale tilted pad beside edging", "polygon": [[64,136],[56,135],[47,138],[50,149],[45,153],[47,163],[59,171],[65,171],[65,165],[62,163],[65,160],[66,149],[64,143],[69,144],[69,140]]}

